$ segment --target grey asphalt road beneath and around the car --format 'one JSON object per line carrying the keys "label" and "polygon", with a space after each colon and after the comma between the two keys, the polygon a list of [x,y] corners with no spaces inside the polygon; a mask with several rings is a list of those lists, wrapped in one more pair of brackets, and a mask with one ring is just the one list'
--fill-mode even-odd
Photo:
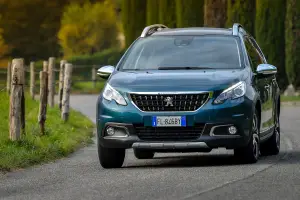
{"label": "grey asphalt road beneath and around the car", "polygon": [[[72,96],[71,106],[95,121],[96,96]],[[68,158],[0,175],[0,199],[300,199],[300,107],[282,108],[281,152],[243,165],[232,151],[157,154],[124,167],[101,168],[96,145]],[[1,159],[1,158],[0,158]]]}

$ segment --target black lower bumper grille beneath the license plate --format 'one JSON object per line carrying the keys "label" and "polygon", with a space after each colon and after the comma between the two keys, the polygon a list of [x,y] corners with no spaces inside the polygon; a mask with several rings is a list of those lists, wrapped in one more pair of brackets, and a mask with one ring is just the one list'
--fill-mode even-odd
{"label": "black lower bumper grille beneath the license plate", "polygon": [[191,127],[145,127],[135,126],[136,134],[141,140],[148,141],[183,141],[197,139],[201,136],[204,124]]}

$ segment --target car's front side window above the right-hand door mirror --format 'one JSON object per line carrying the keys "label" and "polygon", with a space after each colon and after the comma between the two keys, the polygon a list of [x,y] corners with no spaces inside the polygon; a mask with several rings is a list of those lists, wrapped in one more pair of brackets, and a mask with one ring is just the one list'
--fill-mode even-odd
{"label": "car's front side window above the right-hand door mirror", "polygon": [[248,37],[244,38],[246,50],[248,53],[250,65],[252,68],[252,71],[255,72],[256,68],[259,64],[264,63],[263,57],[258,53],[258,50],[254,47],[251,40]]}

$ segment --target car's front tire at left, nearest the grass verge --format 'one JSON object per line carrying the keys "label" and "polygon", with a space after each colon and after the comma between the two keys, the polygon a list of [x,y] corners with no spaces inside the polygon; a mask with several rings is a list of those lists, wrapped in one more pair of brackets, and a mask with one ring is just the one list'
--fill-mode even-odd
{"label": "car's front tire at left, nearest the grass verge", "polygon": [[105,148],[98,144],[98,156],[103,168],[120,168],[125,159],[125,149]]}

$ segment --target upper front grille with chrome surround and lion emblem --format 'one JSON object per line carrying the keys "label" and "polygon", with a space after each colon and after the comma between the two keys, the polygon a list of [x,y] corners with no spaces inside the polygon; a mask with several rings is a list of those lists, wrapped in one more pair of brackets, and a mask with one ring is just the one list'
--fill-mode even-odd
{"label": "upper front grille with chrome surround and lion emblem", "polygon": [[208,99],[201,94],[130,94],[133,103],[142,111],[195,111]]}

